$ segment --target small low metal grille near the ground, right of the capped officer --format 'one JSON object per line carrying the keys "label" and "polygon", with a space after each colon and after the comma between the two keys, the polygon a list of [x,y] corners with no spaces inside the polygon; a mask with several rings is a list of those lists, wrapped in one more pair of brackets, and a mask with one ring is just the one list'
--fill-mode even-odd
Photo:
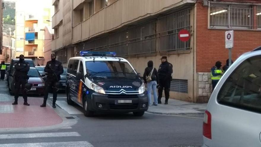
{"label": "small low metal grille near the ground, right of the capped officer", "polygon": [[188,80],[173,79],[170,84],[170,91],[188,93]]}

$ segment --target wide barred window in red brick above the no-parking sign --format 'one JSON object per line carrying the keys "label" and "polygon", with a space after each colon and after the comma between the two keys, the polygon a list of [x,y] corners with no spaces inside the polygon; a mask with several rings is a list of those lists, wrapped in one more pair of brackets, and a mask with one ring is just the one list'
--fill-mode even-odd
{"label": "wide barred window in red brick above the no-parking sign", "polygon": [[253,27],[253,6],[211,4],[209,11],[210,28],[242,28]]}

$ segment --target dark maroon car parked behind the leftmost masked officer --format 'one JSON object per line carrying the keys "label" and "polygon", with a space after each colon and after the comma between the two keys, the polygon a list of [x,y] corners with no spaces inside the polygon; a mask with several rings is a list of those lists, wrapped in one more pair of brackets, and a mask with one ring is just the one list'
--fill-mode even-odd
{"label": "dark maroon car parked behind the leftmost masked officer", "polygon": [[[15,94],[15,81],[14,81],[14,71],[15,69],[13,68],[12,70],[12,74],[9,74],[9,92],[11,93],[11,95]],[[41,77],[41,75],[39,74],[38,70],[35,67],[30,67],[30,70],[28,72],[28,83],[32,83],[33,86],[31,88],[31,90],[29,90],[27,93],[28,94],[44,94],[44,80]],[[20,88],[19,93],[22,94],[22,88]]]}

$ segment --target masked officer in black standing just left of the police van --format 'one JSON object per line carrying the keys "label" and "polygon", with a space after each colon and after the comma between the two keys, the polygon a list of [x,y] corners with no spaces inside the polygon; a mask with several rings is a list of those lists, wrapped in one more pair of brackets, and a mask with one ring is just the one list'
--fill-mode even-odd
{"label": "masked officer in black standing just left of the police van", "polygon": [[53,90],[53,100],[52,100],[52,107],[56,108],[55,102],[57,99],[57,91],[59,87],[59,80],[61,80],[61,74],[63,73],[63,65],[61,62],[55,60],[56,55],[52,53],[51,61],[48,61],[44,72],[47,72],[47,81],[45,82],[45,91],[44,91],[44,103],[40,107],[46,107],[46,101],[48,98],[48,91],[49,88]]}

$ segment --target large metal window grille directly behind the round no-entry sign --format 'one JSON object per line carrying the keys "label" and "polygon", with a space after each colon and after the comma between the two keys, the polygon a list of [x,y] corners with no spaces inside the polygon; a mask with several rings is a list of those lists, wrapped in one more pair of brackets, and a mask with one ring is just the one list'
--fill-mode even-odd
{"label": "large metal window grille directly behind the round no-entry sign", "polygon": [[179,11],[158,19],[159,51],[187,50],[190,41],[179,40],[182,29],[190,31],[190,9]]}

